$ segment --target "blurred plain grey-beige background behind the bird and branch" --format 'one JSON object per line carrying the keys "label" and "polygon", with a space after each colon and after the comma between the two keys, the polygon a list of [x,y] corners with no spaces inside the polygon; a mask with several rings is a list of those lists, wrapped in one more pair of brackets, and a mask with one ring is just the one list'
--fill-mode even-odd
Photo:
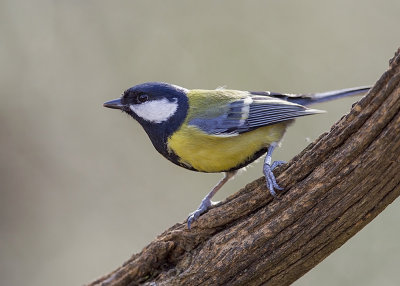
{"label": "blurred plain grey-beige background behind the bird and branch", "polygon": [[[82,285],[186,219],[221,174],[162,158],[104,101],[164,81],[313,92],[374,84],[399,1],[0,0],[0,284]],[[356,98],[297,120],[290,160]],[[216,196],[260,177],[254,164]],[[295,285],[399,285],[398,202]]]}

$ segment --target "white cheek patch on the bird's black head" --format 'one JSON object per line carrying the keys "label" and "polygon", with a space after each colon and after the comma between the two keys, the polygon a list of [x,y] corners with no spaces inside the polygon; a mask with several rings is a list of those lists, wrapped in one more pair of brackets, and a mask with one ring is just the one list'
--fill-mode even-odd
{"label": "white cheek patch on the bird's black head", "polygon": [[178,99],[169,101],[166,98],[151,100],[141,104],[131,104],[129,108],[146,121],[161,123],[167,121],[178,109]]}

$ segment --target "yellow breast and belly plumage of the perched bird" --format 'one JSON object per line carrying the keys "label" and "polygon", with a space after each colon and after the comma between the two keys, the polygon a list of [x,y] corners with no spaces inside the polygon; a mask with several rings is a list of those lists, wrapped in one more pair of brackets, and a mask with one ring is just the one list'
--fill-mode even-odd
{"label": "yellow breast and belly plumage of the perched bird", "polygon": [[287,122],[260,127],[236,136],[208,135],[184,124],[168,139],[168,148],[182,164],[201,172],[231,170],[250,160],[257,151],[282,138]]}

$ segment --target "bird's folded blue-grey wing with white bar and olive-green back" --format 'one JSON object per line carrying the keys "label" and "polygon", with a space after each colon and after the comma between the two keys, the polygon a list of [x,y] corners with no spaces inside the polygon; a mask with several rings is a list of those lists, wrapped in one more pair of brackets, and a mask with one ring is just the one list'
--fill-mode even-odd
{"label": "bird's folded blue-grey wing with white bar and olive-green back", "polygon": [[236,136],[258,127],[322,112],[268,95],[231,90],[208,92],[218,92],[219,96],[213,93],[200,97],[196,94],[198,102],[194,105],[199,106],[202,101],[202,108],[193,108],[189,112],[188,125],[210,135]]}

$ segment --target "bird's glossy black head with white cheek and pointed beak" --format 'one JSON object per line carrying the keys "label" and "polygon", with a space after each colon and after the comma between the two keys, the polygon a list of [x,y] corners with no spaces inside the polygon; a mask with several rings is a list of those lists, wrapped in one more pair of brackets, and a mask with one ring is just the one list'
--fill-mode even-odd
{"label": "bird's glossy black head with white cheek and pointed beak", "polygon": [[121,98],[107,101],[104,106],[131,115],[155,144],[165,141],[185,120],[186,94],[185,88],[176,85],[147,82],[127,89]]}

